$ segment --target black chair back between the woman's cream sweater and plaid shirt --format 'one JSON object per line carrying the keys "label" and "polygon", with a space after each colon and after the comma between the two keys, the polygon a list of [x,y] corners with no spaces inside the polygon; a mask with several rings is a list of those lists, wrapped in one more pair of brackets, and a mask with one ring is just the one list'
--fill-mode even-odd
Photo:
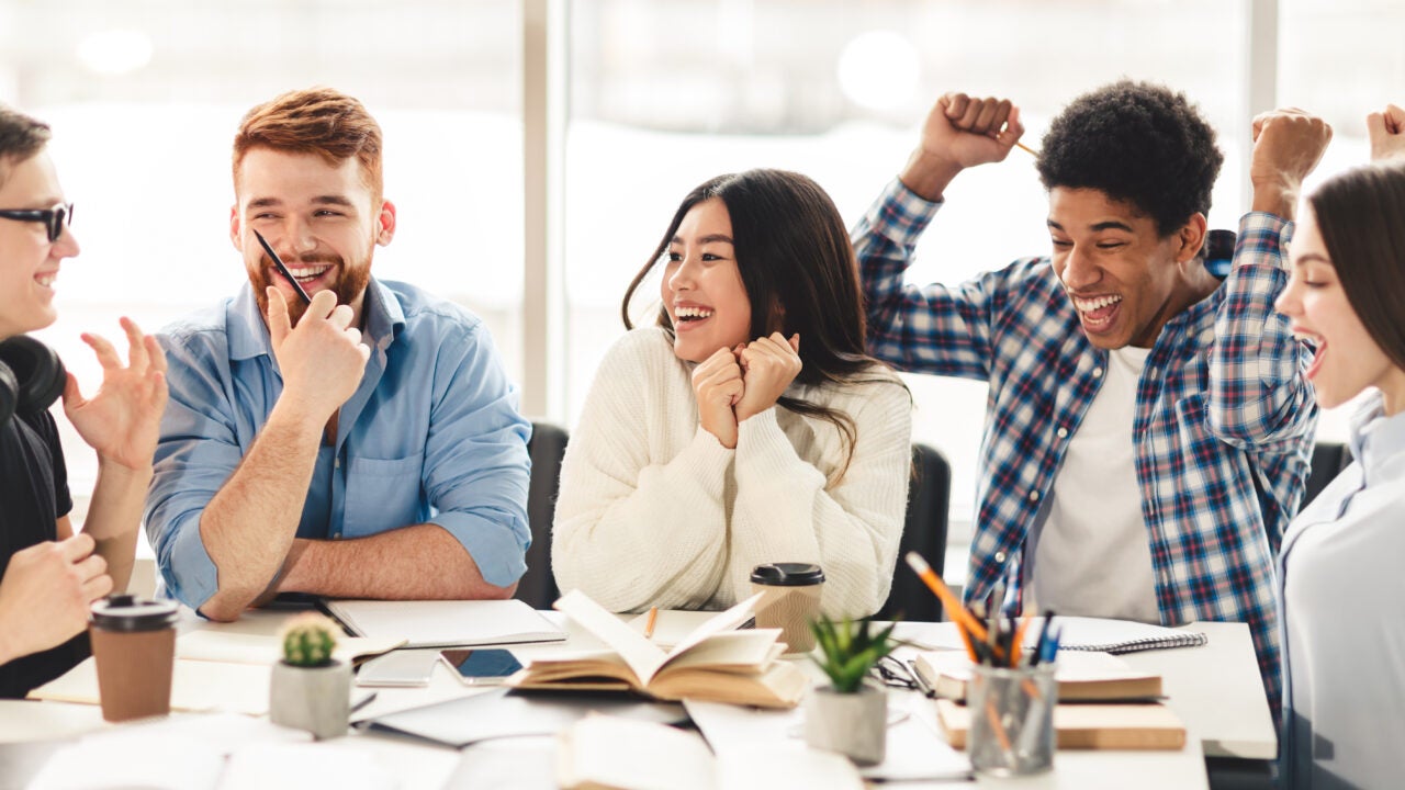
{"label": "black chair back between the woman's cream sweater and plaid shirt", "polygon": [[888,600],[878,610],[880,620],[901,617],[905,621],[941,620],[941,603],[902,559],[916,551],[941,575],[947,554],[947,510],[951,500],[951,465],[934,447],[912,444],[913,477],[908,488],[908,516],[902,524],[898,566],[894,571]]}

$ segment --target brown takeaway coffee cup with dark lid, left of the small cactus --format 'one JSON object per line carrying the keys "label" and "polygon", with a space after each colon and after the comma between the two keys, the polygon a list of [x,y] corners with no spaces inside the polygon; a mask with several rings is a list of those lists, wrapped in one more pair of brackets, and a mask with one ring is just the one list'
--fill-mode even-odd
{"label": "brown takeaway coffee cup with dark lid, left of the small cactus", "polygon": [[176,661],[173,600],[110,595],[93,604],[93,656],[103,718],[126,721],[171,710]]}

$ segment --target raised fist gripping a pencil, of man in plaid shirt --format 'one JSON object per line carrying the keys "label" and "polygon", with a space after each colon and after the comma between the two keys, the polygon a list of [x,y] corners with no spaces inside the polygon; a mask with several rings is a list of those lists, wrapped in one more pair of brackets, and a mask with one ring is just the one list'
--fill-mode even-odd
{"label": "raised fist gripping a pencil, of man in plaid shirt", "polygon": [[957,173],[1002,162],[1021,135],[1020,108],[1009,98],[947,93],[927,112],[902,183],[929,201],[941,200]]}

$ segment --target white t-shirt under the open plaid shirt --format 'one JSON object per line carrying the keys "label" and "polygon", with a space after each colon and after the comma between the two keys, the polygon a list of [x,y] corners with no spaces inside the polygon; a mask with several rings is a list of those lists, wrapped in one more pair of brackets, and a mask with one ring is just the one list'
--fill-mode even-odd
{"label": "white t-shirt under the open plaid shirt", "polygon": [[1026,589],[1038,610],[1161,623],[1132,441],[1149,354],[1110,351],[1103,388],[1068,443],[1048,517],[1030,534]]}

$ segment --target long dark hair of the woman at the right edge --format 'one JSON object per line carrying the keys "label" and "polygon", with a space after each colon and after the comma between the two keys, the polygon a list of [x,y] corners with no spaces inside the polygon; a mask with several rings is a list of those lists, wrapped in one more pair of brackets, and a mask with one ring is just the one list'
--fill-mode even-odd
{"label": "long dark hair of the woman at the right edge", "polygon": [[1405,163],[1356,167],[1308,197],[1322,243],[1366,332],[1405,368]]}

